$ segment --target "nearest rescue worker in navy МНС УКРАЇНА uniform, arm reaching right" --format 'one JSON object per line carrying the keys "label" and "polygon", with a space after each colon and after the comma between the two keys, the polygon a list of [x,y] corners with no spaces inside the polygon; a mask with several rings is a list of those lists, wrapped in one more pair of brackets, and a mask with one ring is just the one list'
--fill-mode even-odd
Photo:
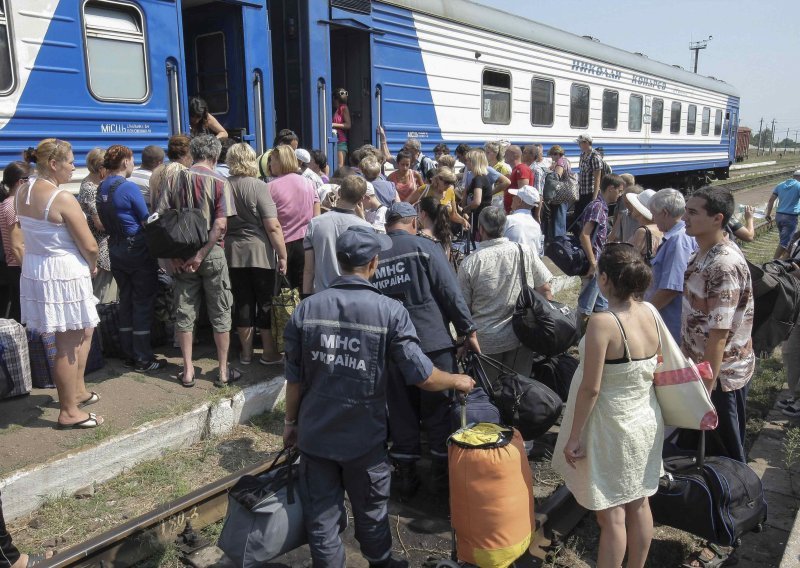
{"label": "nearest rescue worker in navy \u041c\u041d\u0421 \u0423\u041a\u0420\u0410\u0407\u041d\u0410 uniform, arm reaching right", "polygon": [[285,330],[284,444],[301,452],[300,483],[313,565],[345,566],[339,528],[347,491],[355,536],[370,566],[406,566],[392,555],[386,453],[387,371],[429,391],[472,390],[466,375],[433,366],[408,311],[369,279],[392,241],[350,227],[336,240],[342,276],[305,299]]}

